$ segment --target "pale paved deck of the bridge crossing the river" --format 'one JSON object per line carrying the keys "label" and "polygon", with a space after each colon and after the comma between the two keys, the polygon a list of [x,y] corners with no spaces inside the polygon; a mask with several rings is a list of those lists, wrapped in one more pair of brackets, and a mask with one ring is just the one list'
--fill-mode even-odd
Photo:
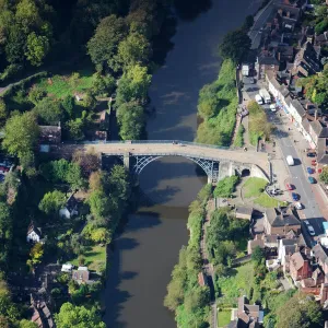
{"label": "pale paved deck of the bridge crossing the river", "polygon": [[132,155],[173,155],[173,156],[195,156],[218,161],[233,161],[245,164],[256,164],[265,172],[268,172],[268,155],[266,153],[257,153],[255,151],[236,151],[216,149],[195,143],[183,143],[181,145],[156,142],[145,143],[85,143],[85,144],[61,144],[59,152],[62,154],[72,154],[75,150],[87,151],[93,149],[97,153],[124,155],[130,153]]}

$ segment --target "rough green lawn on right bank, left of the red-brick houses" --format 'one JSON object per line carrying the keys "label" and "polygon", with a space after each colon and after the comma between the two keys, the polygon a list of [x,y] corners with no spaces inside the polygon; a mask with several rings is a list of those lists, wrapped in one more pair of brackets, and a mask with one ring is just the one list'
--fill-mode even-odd
{"label": "rough green lawn on right bank, left of the red-brick houses", "polygon": [[248,295],[249,288],[253,285],[254,268],[253,263],[248,262],[235,269],[235,273],[230,277],[219,278],[219,288],[221,297],[218,298],[219,306],[235,306],[237,297]]}

